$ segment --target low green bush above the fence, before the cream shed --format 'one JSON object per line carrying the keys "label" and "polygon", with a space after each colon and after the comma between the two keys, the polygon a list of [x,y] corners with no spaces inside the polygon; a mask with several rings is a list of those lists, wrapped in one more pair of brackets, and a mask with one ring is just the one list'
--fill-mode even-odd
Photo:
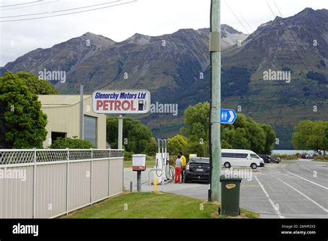
{"label": "low green bush above the fence, before the cream shed", "polygon": [[59,137],[58,139],[56,139],[56,141],[54,141],[51,144],[50,148],[51,149],[65,149],[65,148],[69,148],[69,149],[90,149],[90,148],[95,148],[95,146],[92,145],[90,141],[80,140],[80,139],[77,139],[77,137],[73,137],[73,138]]}

